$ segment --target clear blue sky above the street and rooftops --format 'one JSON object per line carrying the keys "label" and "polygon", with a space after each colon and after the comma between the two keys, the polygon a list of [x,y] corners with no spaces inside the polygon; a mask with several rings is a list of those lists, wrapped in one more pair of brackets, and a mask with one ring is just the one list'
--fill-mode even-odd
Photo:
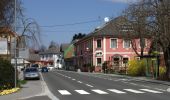
{"label": "clear blue sky above the street and rooftops", "polygon": [[[90,33],[104,23],[105,17],[120,15],[127,5],[127,0],[23,0],[27,18],[35,19],[40,26],[63,25],[41,27],[42,44],[46,46],[51,41],[69,43],[79,32]],[[79,22],[89,23],[66,25]]]}

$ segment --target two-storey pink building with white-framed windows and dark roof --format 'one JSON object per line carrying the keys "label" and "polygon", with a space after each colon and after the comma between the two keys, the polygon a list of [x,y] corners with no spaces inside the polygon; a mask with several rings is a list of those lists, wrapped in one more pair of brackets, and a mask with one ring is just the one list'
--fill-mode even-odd
{"label": "two-storey pink building with white-framed windows and dark roof", "polygon": [[[77,41],[75,45],[75,63],[79,68],[85,64],[95,66],[95,71],[102,71],[102,64],[110,61],[112,66],[125,67],[126,62],[137,57],[132,49],[131,41],[136,45],[137,52],[140,53],[140,39],[136,35],[127,34],[125,29],[117,31],[117,22],[121,18],[116,18],[106,23],[102,28],[88,34],[83,39]],[[124,27],[124,26],[123,26]],[[126,32],[125,32],[126,31]],[[144,39],[144,54],[150,48],[150,39]]]}

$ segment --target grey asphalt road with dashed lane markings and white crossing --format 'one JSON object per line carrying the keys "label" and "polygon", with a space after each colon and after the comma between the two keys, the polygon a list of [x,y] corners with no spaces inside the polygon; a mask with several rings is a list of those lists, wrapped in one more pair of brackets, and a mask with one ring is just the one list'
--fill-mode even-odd
{"label": "grey asphalt road with dashed lane markings and white crossing", "polygon": [[43,73],[43,78],[60,100],[169,100],[168,86],[137,82],[117,76],[68,71]]}

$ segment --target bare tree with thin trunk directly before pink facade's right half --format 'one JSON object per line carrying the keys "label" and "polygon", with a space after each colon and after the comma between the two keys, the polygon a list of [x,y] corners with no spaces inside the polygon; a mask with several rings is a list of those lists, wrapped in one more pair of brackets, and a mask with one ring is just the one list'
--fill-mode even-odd
{"label": "bare tree with thin trunk directly before pink facade's right half", "polygon": [[[125,32],[128,33],[128,39],[131,41],[133,50],[138,56],[144,55],[145,39],[150,38],[148,34],[147,24],[147,7],[143,0],[131,4],[124,12],[124,16],[127,19],[126,26],[124,26]],[[136,38],[139,38],[140,53],[138,52],[138,43]]]}

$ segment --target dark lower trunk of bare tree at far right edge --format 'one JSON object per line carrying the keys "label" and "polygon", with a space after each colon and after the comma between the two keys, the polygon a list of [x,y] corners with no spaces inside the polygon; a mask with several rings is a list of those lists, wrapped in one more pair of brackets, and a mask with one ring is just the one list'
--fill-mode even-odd
{"label": "dark lower trunk of bare tree at far right edge", "polygon": [[166,65],[166,77],[170,79],[170,47],[164,50],[164,60]]}

